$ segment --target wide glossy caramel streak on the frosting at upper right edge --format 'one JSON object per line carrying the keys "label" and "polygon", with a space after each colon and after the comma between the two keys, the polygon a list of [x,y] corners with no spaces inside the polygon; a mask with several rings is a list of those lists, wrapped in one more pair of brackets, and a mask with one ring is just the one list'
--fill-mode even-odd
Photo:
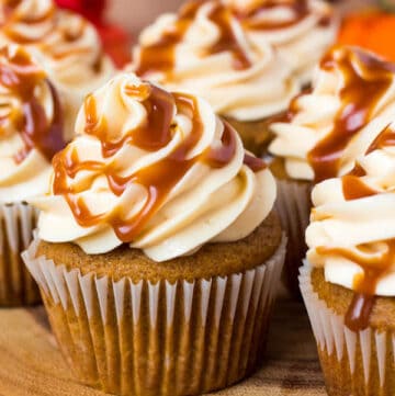
{"label": "wide glossy caramel streak on the frosting at upper right edge", "polygon": [[[340,57],[337,55],[340,54]],[[340,69],[345,86],[340,90],[341,108],[331,132],[309,152],[315,181],[336,177],[341,155],[352,137],[373,115],[377,102],[393,81],[395,65],[357,49],[335,47],[320,63],[327,71]]]}

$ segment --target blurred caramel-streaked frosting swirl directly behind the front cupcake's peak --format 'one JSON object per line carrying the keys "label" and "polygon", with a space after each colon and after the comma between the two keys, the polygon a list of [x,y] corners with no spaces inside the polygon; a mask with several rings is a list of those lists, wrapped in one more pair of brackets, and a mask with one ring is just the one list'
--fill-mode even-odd
{"label": "blurred caramel-streaked frosting swirl directly behind the front cupcake's peak", "polygon": [[256,43],[224,1],[191,1],[143,31],[132,70],[169,90],[189,90],[214,110],[257,121],[286,109],[300,81],[269,43]]}

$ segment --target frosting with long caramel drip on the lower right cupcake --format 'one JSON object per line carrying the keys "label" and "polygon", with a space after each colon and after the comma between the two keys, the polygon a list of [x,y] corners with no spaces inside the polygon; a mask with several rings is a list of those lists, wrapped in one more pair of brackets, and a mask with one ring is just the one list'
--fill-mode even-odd
{"label": "frosting with long caramel drip on the lower right cupcake", "polygon": [[395,296],[395,123],[365,147],[350,172],[314,188],[306,230],[308,261],[356,292],[346,318],[354,330],[368,326],[373,296]]}

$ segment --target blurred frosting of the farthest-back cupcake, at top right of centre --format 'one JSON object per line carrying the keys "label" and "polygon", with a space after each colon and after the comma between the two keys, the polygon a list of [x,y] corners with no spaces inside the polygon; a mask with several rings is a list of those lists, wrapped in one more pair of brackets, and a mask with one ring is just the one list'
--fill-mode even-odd
{"label": "blurred frosting of the farthest-back cupcake, at top right of centre", "polygon": [[312,81],[320,57],[335,42],[337,20],[321,0],[224,0],[258,47],[270,43],[302,84]]}

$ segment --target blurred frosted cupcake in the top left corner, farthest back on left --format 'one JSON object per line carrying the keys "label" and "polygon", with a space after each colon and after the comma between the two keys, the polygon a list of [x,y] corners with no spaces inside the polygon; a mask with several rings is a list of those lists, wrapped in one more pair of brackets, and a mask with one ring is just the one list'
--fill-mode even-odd
{"label": "blurred frosted cupcake in the top left corner, farthest back on left", "polygon": [[23,45],[45,68],[59,92],[67,137],[83,98],[114,73],[91,23],[52,0],[2,1],[0,47]]}

